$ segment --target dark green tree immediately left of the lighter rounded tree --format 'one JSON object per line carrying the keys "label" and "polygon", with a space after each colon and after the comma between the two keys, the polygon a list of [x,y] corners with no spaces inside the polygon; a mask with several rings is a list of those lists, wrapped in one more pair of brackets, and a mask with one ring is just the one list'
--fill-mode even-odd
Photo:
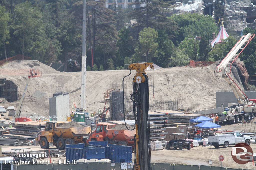
{"label": "dark green tree immediately left of the lighter rounded tree", "polygon": [[122,66],[124,58],[126,56],[132,57],[135,53],[134,49],[137,46],[137,43],[133,40],[130,34],[130,30],[125,27],[119,31],[118,37],[120,39],[116,42],[116,47],[118,47],[118,49],[116,50],[115,66]]}

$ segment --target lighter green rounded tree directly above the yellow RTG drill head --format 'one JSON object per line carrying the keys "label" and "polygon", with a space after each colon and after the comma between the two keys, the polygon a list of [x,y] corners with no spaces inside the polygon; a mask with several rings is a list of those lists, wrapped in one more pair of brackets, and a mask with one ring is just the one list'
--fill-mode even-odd
{"label": "lighter green rounded tree directly above the yellow RTG drill head", "polygon": [[158,52],[157,51],[158,33],[153,28],[148,27],[148,28],[144,28],[139,33],[139,35],[140,35],[139,37],[140,46],[135,48],[133,61],[134,62],[138,62],[138,61],[148,62],[148,60],[151,61],[151,59],[155,57]]}

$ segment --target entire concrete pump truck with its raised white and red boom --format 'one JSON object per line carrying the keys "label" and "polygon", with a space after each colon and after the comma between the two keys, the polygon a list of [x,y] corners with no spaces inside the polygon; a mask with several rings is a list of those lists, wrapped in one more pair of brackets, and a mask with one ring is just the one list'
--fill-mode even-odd
{"label": "entire concrete pump truck with its raised white and red boom", "polygon": [[[221,113],[219,113],[219,123],[230,121],[231,124],[235,124],[244,120],[249,121],[255,117],[256,99],[248,99],[247,95],[241,90],[241,88],[230,76],[232,64],[242,53],[244,48],[249,44],[254,36],[255,34],[250,33],[247,35],[243,35],[216,68],[217,73],[221,72],[222,77],[227,81],[227,83],[233,90],[237,98],[237,102],[239,103],[229,106],[229,108],[227,109],[228,115],[225,116],[224,120],[222,119]],[[237,54],[238,52],[239,54]]]}

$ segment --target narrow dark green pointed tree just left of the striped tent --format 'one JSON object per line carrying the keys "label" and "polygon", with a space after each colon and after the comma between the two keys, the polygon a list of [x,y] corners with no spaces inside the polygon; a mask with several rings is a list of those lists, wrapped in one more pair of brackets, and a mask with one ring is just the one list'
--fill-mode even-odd
{"label": "narrow dark green pointed tree just left of the striped tent", "polygon": [[211,46],[209,45],[209,39],[207,39],[206,35],[203,34],[199,44],[199,55],[197,61],[207,61],[210,50]]}

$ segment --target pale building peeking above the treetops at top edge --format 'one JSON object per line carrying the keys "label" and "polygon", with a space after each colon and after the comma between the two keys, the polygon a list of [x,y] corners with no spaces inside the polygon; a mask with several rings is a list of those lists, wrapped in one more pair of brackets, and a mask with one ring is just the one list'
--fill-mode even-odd
{"label": "pale building peeking above the treetops at top edge", "polygon": [[140,5],[134,5],[132,3],[136,2],[136,0],[107,0],[106,1],[106,8],[113,9],[113,6],[116,6],[116,8],[122,8],[125,9],[127,7],[133,7],[134,8],[139,8]]}

